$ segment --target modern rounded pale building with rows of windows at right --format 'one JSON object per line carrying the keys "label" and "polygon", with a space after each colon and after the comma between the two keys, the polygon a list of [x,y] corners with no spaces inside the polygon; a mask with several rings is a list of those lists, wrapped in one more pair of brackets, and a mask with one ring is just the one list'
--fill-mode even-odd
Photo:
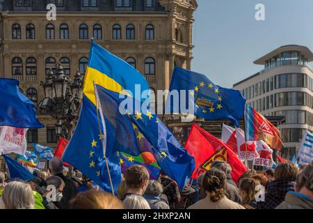
{"label": "modern rounded pale building with rows of windows at right", "polygon": [[283,157],[296,153],[305,130],[313,130],[313,54],[305,46],[286,45],[254,61],[264,70],[234,84],[247,103],[268,116],[285,116],[279,126]]}

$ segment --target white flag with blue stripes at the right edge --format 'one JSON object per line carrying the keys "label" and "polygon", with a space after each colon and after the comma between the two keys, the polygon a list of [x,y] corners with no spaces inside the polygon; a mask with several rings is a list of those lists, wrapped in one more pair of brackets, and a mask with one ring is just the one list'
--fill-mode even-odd
{"label": "white flag with blue stripes at the right edge", "polygon": [[313,160],[313,134],[308,130],[306,130],[303,135],[298,157],[300,165],[310,164]]}

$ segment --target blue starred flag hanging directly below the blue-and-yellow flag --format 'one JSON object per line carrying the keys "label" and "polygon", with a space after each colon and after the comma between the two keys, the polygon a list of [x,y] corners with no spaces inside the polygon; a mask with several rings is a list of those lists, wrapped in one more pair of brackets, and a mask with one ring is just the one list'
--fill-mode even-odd
{"label": "blue starred flag hanging directly below the blue-and-yellow flag", "polygon": [[[63,153],[63,160],[76,167],[85,176],[93,180],[103,190],[111,192],[109,174],[102,146],[103,129],[99,128],[97,109],[93,103],[83,97],[83,105],[77,127]],[[101,129],[101,132],[100,132]],[[114,192],[121,181],[121,169],[118,153],[106,154]]]}

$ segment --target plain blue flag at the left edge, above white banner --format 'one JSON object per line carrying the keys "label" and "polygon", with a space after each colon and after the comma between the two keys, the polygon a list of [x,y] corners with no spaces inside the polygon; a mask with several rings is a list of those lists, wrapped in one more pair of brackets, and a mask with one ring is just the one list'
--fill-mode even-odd
{"label": "plain blue flag at the left edge, above white banner", "polygon": [[0,126],[44,128],[37,117],[35,105],[19,92],[16,79],[0,78]]}

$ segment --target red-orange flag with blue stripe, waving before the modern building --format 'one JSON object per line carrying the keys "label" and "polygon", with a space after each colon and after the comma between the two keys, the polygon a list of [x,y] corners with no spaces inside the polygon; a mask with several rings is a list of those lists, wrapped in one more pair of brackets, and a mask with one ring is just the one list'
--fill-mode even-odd
{"label": "red-orange flag with blue stripe, waving before the modern building", "polygon": [[282,149],[280,131],[249,105],[246,106],[245,121],[247,141],[263,140],[274,150]]}

